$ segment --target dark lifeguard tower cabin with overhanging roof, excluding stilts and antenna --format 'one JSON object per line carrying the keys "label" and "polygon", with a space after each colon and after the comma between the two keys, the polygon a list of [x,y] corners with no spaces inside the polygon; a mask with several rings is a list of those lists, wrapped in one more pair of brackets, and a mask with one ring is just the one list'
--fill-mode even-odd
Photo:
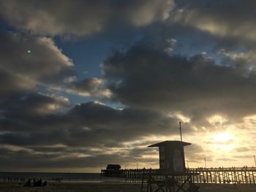
{"label": "dark lifeguard tower cabin with overhanging roof, excluding stilts and antenna", "polygon": [[159,168],[168,172],[185,172],[184,146],[189,142],[165,141],[148,147],[159,147]]}

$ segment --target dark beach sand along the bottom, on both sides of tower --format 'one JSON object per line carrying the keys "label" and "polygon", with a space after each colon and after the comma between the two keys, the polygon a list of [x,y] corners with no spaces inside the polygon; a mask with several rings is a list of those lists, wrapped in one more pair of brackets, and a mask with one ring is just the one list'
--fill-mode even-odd
{"label": "dark beach sand along the bottom, on both sides of tower", "polygon": [[[24,187],[1,183],[1,192],[140,192],[138,183],[50,183],[47,187]],[[200,192],[252,192],[256,185],[200,185]]]}

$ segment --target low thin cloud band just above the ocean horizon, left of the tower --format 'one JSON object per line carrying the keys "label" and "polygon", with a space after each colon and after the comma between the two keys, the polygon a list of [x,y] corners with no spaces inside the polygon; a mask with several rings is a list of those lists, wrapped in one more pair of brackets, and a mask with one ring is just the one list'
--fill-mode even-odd
{"label": "low thin cloud band just above the ocean horizon, left of the tower", "polygon": [[[0,149],[4,152],[0,154],[0,169],[7,170],[11,167],[12,170],[20,170],[20,167],[26,169],[45,168],[81,168],[81,167],[100,167],[105,164],[129,164],[131,161],[136,161],[135,158],[124,153],[99,154],[94,156],[78,157],[72,156],[72,153],[35,153],[29,150],[10,150]],[[5,154],[5,155],[2,155]],[[29,161],[28,161],[29,159]],[[145,158],[140,159],[141,163],[157,163],[157,159]],[[123,167],[124,168],[124,167]]]}

